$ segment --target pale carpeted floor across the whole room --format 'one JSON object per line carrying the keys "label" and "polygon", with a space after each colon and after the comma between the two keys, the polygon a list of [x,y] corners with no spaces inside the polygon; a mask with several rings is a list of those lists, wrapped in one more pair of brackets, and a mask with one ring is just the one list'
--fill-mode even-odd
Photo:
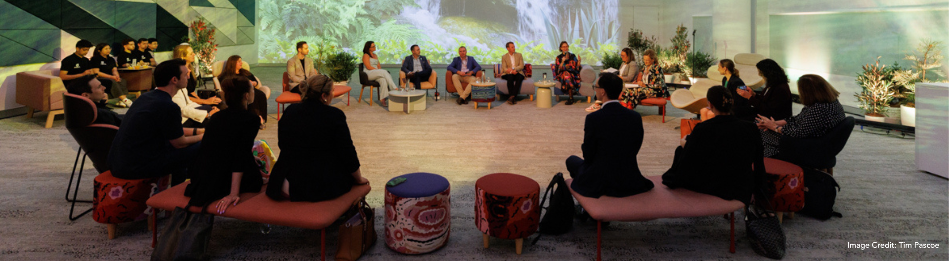
{"label": "pale carpeted floor across the whole room", "polygon": [[[257,67],[254,73],[274,90],[270,123],[260,139],[270,141],[279,155],[276,104],[283,68]],[[396,72],[394,69],[393,72]],[[443,69],[439,85],[443,86]],[[536,73],[536,72],[535,72]],[[358,78],[356,78],[358,79]],[[563,102],[539,109],[533,102],[495,102],[493,109],[457,106],[454,98],[428,100],[428,110],[388,113],[374,104],[357,102],[358,80],[351,104],[336,99],[348,118],[363,175],[373,184],[369,203],[381,213],[383,184],[396,175],[426,171],[445,176],[453,186],[452,236],[448,245],[429,254],[402,255],[378,242],[363,260],[591,260],[596,254],[596,224],[574,223],[566,235],[545,235],[514,254],[513,240],[492,239],[481,247],[474,227],[474,181],[486,174],[512,172],[546,186],[556,172],[566,172],[564,160],[579,155],[586,103]],[[443,89],[442,89],[443,90]],[[368,91],[366,91],[368,93]],[[445,94],[442,94],[445,95]],[[844,95],[842,98],[851,98]],[[666,123],[655,107],[642,107],[645,142],[638,156],[642,173],[661,175],[672,163],[678,145],[679,119],[688,113],[671,105]],[[795,107],[799,110],[799,107]],[[145,222],[121,224],[118,238],[106,239],[105,225],[90,216],[68,221],[63,200],[75,157],[75,141],[62,116],[52,129],[43,129],[45,113],[36,118],[0,120],[0,260],[146,260],[151,233]],[[617,137],[622,138],[622,137]],[[292,141],[287,141],[292,142]],[[865,133],[856,129],[838,156],[835,178],[841,184],[836,210],[843,218],[820,221],[798,215],[783,225],[788,237],[787,260],[946,260],[949,194],[945,179],[914,167],[914,140]],[[95,170],[90,165],[86,173]],[[81,198],[91,198],[92,178],[86,174]],[[77,207],[87,208],[81,203]],[[738,217],[741,217],[740,215]],[[377,224],[381,215],[377,215]],[[159,226],[165,220],[159,221]],[[319,232],[273,227],[260,233],[260,224],[218,217],[209,256],[214,260],[314,260],[319,258]],[[605,260],[762,260],[745,237],[744,224],[735,224],[737,252],[728,252],[728,221],[721,217],[614,222],[605,229]],[[377,225],[382,235],[382,227]],[[327,239],[327,255],[335,253],[335,229]],[[939,243],[940,249],[847,248],[847,243]],[[330,258],[331,259],[331,258]]]}

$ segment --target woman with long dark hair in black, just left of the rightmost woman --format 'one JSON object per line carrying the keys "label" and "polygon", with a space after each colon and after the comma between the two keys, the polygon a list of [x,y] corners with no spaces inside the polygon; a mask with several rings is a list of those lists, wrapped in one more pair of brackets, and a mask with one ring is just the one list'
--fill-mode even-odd
{"label": "woman with long dark hair in black, just left of the rightmost woman", "polygon": [[738,96],[748,99],[759,115],[783,120],[791,116],[791,87],[788,86],[788,75],[781,65],[771,59],[758,61],[758,75],[765,78],[764,95],[757,95],[752,91],[737,90]]}

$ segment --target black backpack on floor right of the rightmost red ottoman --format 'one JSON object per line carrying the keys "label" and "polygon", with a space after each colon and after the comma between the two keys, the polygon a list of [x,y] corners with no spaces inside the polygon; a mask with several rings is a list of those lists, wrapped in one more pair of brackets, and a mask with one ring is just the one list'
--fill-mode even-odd
{"label": "black backpack on floor right of the rightmost red ottoman", "polygon": [[830,217],[844,217],[840,213],[833,211],[834,200],[837,199],[837,192],[840,191],[840,185],[834,181],[833,176],[827,172],[817,169],[804,168],[804,208],[797,213],[821,220],[827,220]]}

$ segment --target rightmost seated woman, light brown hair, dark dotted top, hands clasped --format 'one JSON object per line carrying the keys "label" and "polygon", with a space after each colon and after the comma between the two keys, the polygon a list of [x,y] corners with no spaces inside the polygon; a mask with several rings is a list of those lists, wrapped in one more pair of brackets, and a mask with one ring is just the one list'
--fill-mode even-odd
{"label": "rightmost seated woman, light brown hair, dark dotted top, hands clasped", "polygon": [[805,75],[798,78],[797,93],[804,104],[801,113],[784,120],[758,117],[758,128],[764,129],[761,139],[765,146],[765,157],[778,154],[783,135],[795,138],[820,137],[847,117],[844,106],[837,100],[840,92],[820,76]]}

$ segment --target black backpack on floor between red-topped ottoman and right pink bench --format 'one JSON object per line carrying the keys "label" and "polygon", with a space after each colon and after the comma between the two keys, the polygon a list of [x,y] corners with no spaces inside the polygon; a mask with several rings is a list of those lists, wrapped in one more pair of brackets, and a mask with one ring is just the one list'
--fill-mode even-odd
{"label": "black backpack on floor between red-topped ottoman and right pink bench", "polygon": [[[557,187],[554,188],[554,185],[557,185]],[[550,194],[551,191],[553,192],[552,195]],[[544,202],[548,199],[550,203],[545,207]],[[547,210],[540,218],[538,230],[541,234],[561,235],[573,228],[573,216],[576,211],[573,208],[573,196],[570,195],[567,181],[564,180],[564,173],[553,175],[540,205],[541,209]],[[540,236],[534,238],[534,242],[536,243],[539,238]]]}

